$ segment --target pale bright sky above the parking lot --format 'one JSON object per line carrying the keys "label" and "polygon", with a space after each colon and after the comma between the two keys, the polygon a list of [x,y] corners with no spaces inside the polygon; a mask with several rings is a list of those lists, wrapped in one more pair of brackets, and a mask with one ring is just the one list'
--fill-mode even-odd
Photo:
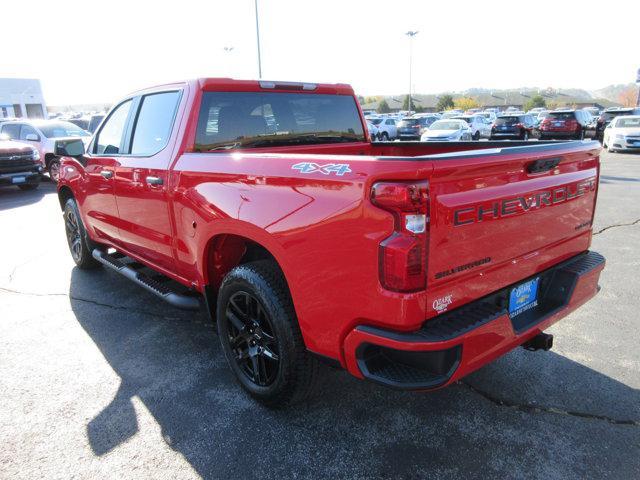
{"label": "pale bright sky above the parking lot", "polygon": [[[414,92],[635,80],[640,0],[258,0],[263,78]],[[0,77],[49,105],[199,76],[257,78],[253,0],[3,1]],[[224,47],[233,47],[230,53]]]}

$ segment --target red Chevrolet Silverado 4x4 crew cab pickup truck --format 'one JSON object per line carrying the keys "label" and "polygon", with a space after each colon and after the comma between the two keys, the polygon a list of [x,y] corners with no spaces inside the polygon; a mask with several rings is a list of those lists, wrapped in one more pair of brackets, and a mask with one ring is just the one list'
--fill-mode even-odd
{"label": "red Chevrolet Silverado 4x4 crew cab pickup truck", "polygon": [[59,142],[80,268],[205,308],[239,383],[305,398],[319,362],[429,390],[594,296],[600,146],[371,143],[342,84],[201,79],[117,103]]}

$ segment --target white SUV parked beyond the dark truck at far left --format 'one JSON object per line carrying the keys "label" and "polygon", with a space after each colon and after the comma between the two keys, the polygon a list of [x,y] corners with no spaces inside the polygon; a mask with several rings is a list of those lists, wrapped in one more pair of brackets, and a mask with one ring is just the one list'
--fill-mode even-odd
{"label": "white SUV parked beyond the dark truck at far left", "polygon": [[40,152],[45,169],[52,181],[57,182],[60,174],[60,160],[55,156],[56,140],[82,138],[85,146],[91,141],[91,134],[69,122],[60,120],[17,120],[0,126],[11,140],[28,143]]}

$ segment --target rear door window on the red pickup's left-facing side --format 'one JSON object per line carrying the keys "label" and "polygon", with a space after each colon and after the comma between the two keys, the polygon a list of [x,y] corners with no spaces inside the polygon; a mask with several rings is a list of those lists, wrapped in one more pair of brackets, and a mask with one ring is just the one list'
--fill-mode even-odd
{"label": "rear door window on the red pickup's left-facing side", "polygon": [[142,97],[133,131],[131,155],[155,155],[169,141],[180,92],[163,92]]}

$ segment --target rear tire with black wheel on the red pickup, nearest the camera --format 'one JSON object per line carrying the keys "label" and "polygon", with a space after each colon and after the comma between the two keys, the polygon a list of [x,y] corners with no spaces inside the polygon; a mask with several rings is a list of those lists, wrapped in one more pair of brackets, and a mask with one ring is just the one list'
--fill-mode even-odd
{"label": "rear tire with black wheel on the red pickup, nearest the camera", "polygon": [[231,270],[218,292],[216,318],[229,367],[253,398],[277,408],[309,397],[320,366],[306,350],[284,276],[273,261]]}

